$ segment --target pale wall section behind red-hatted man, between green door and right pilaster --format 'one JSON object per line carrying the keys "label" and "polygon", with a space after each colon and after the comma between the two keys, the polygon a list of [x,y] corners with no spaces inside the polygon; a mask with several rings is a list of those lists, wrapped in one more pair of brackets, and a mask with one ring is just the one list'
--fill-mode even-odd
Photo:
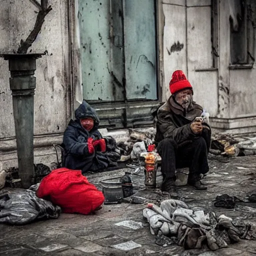
{"label": "pale wall section behind red-hatted man, between green door and right pilaster", "polygon": [[182,69],[193,86],[194,99],[211,116],[216,116],[218,88],[217,70],[212,69],[211,1],[163,0],[162,8],[163,99],[170,95],[169,80],[172,72]]}

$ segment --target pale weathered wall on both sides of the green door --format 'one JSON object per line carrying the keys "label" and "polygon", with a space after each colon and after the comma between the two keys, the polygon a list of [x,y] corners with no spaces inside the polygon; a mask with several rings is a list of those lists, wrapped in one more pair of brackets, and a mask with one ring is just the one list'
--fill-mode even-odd
{"label": "pale weathered wall on both sides of the green door", "polygon": [[[48,52],[37,60],[34,96],[35,162],[45,163],[54,160],[51,145],[61,142],[82,95],[77,0],[49,0],[49,4],[53,10],[31,48]],[[0,52],[12,52],[32,29],[37,9],[29,0],[0,0],[0,6]],[[211,53],[211,1],[158,0],[157,7],[162,101],[170,94],[172,72],[182,69],[193,85],[194,99],[210,113],[213,127],[256,131],[255,66],[229,69],[228,1],[218,1],[217,68]],[[8,63],[0,59],[0,169],[17,165],[8,77]]]}

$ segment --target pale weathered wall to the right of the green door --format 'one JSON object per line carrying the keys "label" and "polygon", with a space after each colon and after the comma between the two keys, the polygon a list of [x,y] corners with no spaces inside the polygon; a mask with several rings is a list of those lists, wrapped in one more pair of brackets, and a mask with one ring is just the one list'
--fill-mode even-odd
{"label": "pale weathered wall to the right of the green door", "polygon": [[[176,69],[182,69],[194,90],[194,99],[211,116],[211,125],[230,132],[256,131],[256,96],[253,68],[230,69],[230,5],[217,1],[217,57],[213,65],[211,0],[162,0],[164,21],[163,100],[168,98],[169,80]],[[255,40],[254,40],[255,41]],[[256,51],[254,50],[254,56]],[[255,117],[254,117],[255,116]]]}

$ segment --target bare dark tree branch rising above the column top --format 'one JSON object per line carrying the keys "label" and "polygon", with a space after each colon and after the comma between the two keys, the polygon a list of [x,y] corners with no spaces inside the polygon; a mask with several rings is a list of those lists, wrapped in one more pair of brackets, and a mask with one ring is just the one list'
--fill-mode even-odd
{"label": "bare dark tree branch rising above the column top", "polygon": [[[31,1],[31,0],[30,0]],[[50,10],[52,10],[51,6],[45,7],[47,0],[41,0],[40,10],[37,13],[35,24],[33,30],[29,33],[25,41],[20,40],[20,45],[18,47],[17,53],[26,53],[27,49],[32,45],[34,40],[36,39],[38,33],[41,30],[42,24],[44,22],[44,17],[48,14]]]}

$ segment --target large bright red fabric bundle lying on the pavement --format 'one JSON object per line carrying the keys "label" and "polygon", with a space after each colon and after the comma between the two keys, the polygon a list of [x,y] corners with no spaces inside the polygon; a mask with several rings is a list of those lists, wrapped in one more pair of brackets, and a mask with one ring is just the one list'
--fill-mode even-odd
{"label": "large bright red fabric bundle lying on the pavement", "polygon": [[80,170],[64,167],[45,176],[36,195],[60,206],[65,213],[89,214],[104,201],[103,193],[89,183]]}

